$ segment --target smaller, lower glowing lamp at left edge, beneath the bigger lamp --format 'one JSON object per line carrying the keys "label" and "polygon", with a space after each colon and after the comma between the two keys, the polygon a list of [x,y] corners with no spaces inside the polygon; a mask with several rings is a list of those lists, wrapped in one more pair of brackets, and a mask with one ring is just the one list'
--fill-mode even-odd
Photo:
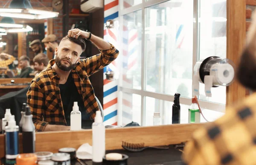
{"label": "smaller, lower glowing lamp at left edge, beneath the bigger lamp", "polygon": [[[6,33],[15,33],[15,32],[31,32],[33,28],[28,25],[15,24],[14,20],[11,17],[3,17],[0,21],[0,27],[5,27],[8,29],[0,28],[0,35],[6,35]],[[11,29],[15,28],[15,29]]]}

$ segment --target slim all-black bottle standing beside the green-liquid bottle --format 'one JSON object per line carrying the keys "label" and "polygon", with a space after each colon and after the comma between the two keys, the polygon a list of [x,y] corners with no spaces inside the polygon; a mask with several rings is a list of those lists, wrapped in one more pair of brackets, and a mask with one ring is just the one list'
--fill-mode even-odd
{"label": "slim all-black bottle standing beside the green-liquid bottle", "polygon": [[172,105],[172,124],[180,123],[180,93],[175,93]]}

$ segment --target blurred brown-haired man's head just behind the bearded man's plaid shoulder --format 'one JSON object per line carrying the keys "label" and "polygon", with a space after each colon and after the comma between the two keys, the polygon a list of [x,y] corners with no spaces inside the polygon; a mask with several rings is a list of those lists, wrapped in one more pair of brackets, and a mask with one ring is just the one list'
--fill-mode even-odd
{"label": "blurred brown-haired man's head just behind the bearded man's plaid shoulder", "polygon": [[46,70],[49,59],[44,53],[38,54],[33,59],[35,72],[31,73],[30,76],[36,77],[40,72]]}

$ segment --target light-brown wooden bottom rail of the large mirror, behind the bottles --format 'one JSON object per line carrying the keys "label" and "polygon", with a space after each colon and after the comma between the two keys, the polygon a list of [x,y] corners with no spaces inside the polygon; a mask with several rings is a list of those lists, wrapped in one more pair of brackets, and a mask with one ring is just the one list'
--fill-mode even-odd
{"label": "light-brown wooden bottom rail of the large mirror, behind the bottles", "polygon": [[[125,127],[106,129],[106,150],[122,149],[122,141],[145,143],[145,146],[179,144],[188,141],[192,132],[201,124],[172,124],[152,127]],[[20,153],[22,153],[22,134],[19,136]],[[92,145],[92,130],[54,131],[36,133],[35,150],[58,152],[59,148],[78,149],[84,143]],[[5,156],[5,136],[0,135],[0,158]]]}

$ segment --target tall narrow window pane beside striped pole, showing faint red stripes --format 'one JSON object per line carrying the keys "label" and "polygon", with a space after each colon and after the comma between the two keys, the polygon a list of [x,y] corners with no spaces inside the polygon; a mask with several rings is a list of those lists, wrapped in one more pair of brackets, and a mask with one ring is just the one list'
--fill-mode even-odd
{"label": "tall narrow window pane beside striped pole, showing faint red stripes", "polygon": [[142,11],[122,16],[122,86],[141,89]]}

